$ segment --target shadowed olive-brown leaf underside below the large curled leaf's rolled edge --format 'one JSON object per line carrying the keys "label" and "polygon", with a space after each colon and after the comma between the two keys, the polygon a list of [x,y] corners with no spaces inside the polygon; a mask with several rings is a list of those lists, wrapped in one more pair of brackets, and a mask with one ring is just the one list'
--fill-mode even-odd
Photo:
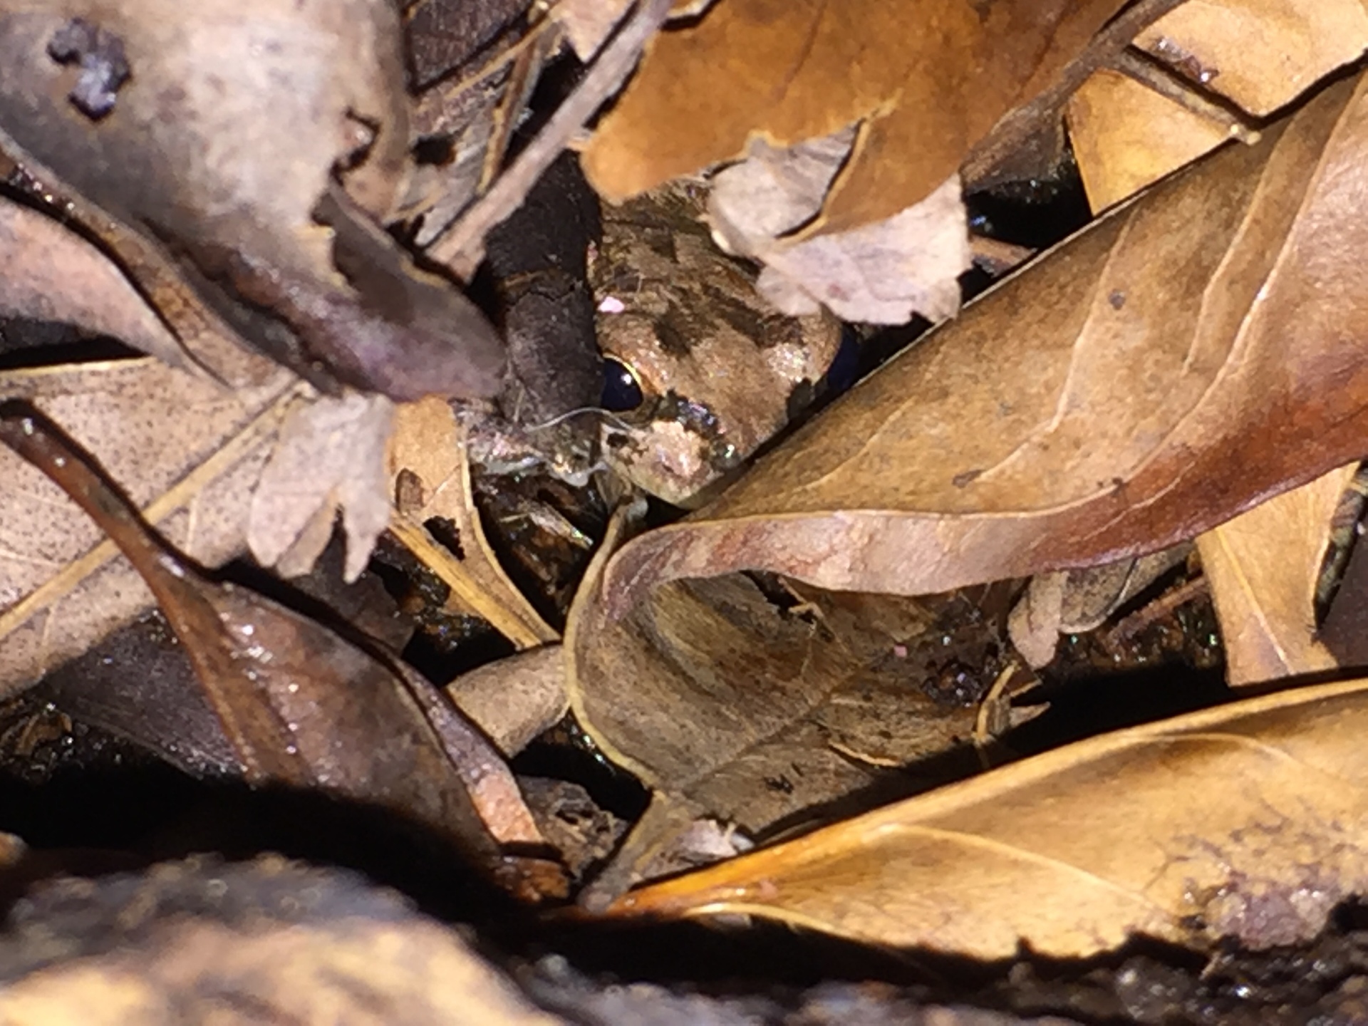
{"label": "shadowed olive-brown leaf underside below the large curled leaf's rolled edge", "polygon": [[[628,520],[614,520],[581,596]],[[814,598],[799,606],[813,613],[784,610],[729,575],[665,584],[621,620],[576,601],[570,706],[657,792],[587,900],[621,891],[698,815],[754,834],[855,792],[867,808],[941,782],[956,758],[975,765],[969,739],[1003,647],[993,617],[964,595]],[[932,757],[940,765],[919,773]]]}

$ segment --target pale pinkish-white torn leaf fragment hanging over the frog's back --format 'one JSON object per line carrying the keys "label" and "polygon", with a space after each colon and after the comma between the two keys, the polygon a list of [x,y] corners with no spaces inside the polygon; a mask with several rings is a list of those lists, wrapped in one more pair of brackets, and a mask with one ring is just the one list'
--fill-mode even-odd
{"label": "pale pinkish-white torn leaf fragment hanging over the frog's back", "polygon": [[904,324],[959,312],[959,275],[970,265],[969,220],[951,175],[930,196],[893,216],[815,238],[784,238],[818,215],[850,153],[854,131],[785,150],[763,141],[720,171],[709,220],[733,253],[765,264],[761,295],[789,315],[826,305],[841,320]]}

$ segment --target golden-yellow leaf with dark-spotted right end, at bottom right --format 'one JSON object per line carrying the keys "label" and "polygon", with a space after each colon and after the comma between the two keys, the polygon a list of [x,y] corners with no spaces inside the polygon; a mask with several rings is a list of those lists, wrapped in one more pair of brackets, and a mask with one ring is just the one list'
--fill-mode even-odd
{"label": "golden-yellow leaf with dark-spotted right end, at bottom right", "polygon": [[1081,958],[1138,934],[1297,944],[1368,886],[1365,714],[1360,680],[1104,735],[611,912],[743,912],[981,959]]}

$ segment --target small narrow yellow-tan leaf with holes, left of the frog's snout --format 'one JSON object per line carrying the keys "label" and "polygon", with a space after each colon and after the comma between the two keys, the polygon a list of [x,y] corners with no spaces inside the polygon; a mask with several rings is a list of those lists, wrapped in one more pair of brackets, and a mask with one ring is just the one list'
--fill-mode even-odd
{"label": "small narrow yellow-tan leaf with holes, left of the frog's snout", "polygon": [[[471,491],[465,439],[451,408],[440,399],[399,406],[390,440],[389,473],[397,497],[390,529],[451,588],[449,605],[483,617],[518,648],[560,640],[509,580],[484,538]],[[439,544],[424,524],[450,521],[462,557]]]}

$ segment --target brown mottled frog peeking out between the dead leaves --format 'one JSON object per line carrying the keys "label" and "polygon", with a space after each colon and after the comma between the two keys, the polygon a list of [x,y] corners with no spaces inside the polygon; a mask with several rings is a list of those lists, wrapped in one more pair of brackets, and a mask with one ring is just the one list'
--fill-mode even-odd
{"label": "brown mottled frog peeking out between the dead leaves", "polygon": [[826,311],[788,316],[757,294],[758,269],[713,241],[706,198],[683,179],[605,204],[588,268],[606,369],[640,395],[601,417],[601,458],[685,509],[811,402],[841,343]]}

